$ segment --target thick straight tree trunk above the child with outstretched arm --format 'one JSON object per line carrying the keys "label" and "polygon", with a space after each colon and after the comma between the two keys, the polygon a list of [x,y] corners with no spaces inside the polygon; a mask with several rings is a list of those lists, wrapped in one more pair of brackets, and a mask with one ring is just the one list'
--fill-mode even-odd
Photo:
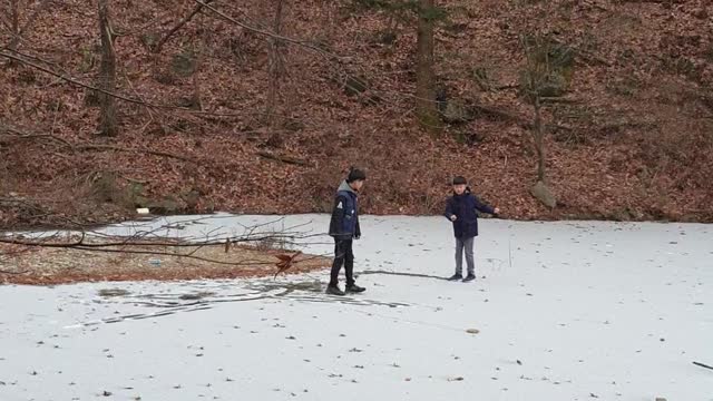
{"label": "thick straight tree trunk above the child with outstretched arm", "polygon": [[440,126],[433,85],[433,8],[434,0],[419,1],[416,113],[419,124],[429,130],[437,130]]}

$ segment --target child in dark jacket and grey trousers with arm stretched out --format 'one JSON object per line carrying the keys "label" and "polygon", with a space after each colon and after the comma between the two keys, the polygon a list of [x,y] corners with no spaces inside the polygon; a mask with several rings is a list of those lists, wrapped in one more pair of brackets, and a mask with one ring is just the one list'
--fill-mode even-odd
{"label": "child in dark jacket and grey trousers with arm stretched out", "polygon": [[[462,280],[463,283],[476,280],[475,260],[472,246],[478,236],[478,213],[497,215],[500,209],[481,203],[470,193],[466,178],[458,176],[453,178],[453,195],[448,198],[446,205],[446,218],[453,223],[453,234],[456,236],[456,274],[449,281]],[[468,263],[468,276],[463,278],[463,251]]]}

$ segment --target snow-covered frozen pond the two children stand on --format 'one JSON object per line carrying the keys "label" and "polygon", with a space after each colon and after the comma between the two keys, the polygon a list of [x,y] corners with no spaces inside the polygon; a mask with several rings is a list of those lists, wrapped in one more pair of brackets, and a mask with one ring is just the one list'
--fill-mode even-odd
{"label": "snow-covered frozen pond the two children stand on", "polygon": [[[284,224],[307,222],[328,217]],[[0,400],[713,400],[692,363],[713,364],[713,226],[481,221],[469,284],[430,277],[453,271],[443,218],[362,231],[368,291],[344,299],[328,272],[0,286]]]}

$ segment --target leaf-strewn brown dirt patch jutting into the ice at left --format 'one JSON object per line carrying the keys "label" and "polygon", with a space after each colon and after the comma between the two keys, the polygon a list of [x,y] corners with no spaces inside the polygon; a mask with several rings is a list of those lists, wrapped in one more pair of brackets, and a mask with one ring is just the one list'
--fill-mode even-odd
{"label": "leaf-strewn brown dirt patch jutting into the ice at left", "polygon": [[[263,251],[223,246],[131,246],[102,251],[26,247],[0,244],[0,284],[53,285],[78,282],[184,281],[272,276],[276,255],[290,251]],[[143,253],[136,253],[143,252]],[[301,254],[286,274],[326,268],[323,256]],[[283,273],[284,274],[284,273]]]}

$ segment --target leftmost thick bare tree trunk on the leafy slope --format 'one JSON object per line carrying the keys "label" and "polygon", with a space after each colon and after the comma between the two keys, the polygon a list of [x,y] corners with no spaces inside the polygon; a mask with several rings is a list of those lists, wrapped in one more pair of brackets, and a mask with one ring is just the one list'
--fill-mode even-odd
{"label": "leftmost thick bare tree trunk on the leafy slope", "polygon": [[[99,0],[99,32],[101,35],[99,88],[114,92],[116,89],[116,52],[114,50],[114,33],[109,22],[108,0]],[[114,97],[101,92],[99,94],[99,102],[101,106],[99,134],[109,137],[117,136],[118,127]]]}

